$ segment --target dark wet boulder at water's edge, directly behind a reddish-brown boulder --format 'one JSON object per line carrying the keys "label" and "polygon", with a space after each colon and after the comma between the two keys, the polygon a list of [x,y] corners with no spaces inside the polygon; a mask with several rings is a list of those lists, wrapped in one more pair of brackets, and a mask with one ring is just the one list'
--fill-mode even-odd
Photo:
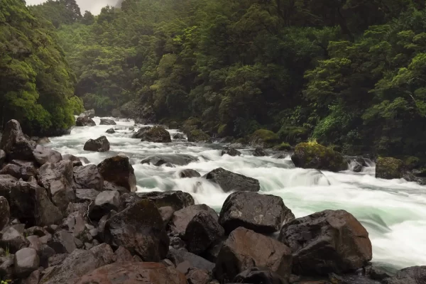
{"label": "dark wet boulder at water's edge, directly behind a reddish-brown boulder", "polygon": [[260,234],[272,234],[281,228],[283,222],[295,219],[285,207],[283,199],[275,195],[261,195],[257,192],[234,192],[229,195],[219,214],[226,234],[244,226]]}

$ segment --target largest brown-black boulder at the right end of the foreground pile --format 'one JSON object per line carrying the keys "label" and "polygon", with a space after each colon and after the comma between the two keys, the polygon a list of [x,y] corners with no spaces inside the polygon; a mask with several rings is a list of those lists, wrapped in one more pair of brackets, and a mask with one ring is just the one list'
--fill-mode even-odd
{"label": "largest brown-black boulder at the right end of the foreground pile", "polygon": [[284,224],[278,238],[293,251],[293,273],[356,271],[371,261],[368,232],[350,213],[325,210]]}

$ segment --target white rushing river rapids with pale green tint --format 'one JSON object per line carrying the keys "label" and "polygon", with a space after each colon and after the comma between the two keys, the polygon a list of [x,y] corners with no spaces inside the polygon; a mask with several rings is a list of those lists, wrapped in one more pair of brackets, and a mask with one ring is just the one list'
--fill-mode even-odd
{"label": "white rushing river rapids with pale green tint", "polygon": [[[192,168],[204,175],[215,168],[256,178],[261,192],[283,198],[296,217],[324,209],[345,209],[361,221],[373,244],[373,261],[386,266],[403,268],[426,265],[426,187],[405,180],[374,178],[374,165],[363,173],[351,171],[322,175],[315,170],[295,168],[290,160],[254,157],[251,151],[240,149],[239,157],[221,156],[223,145],[195,144],[185,141],[148,143],[130,138],[133,121],[116,121],[116,126],[75,127],[71,135],[51,139],[50,146],[61,153],[84,156],[100,163],[116,153],[126,153],[135,169],[138,191],[182,190],[190,192],[197,203],[219,210],[226,193],[202,178],[178,178],[180,170]],[[136,126],[136,130],[140,126]],[[105,133],[114,128],[114,134]],[[176,130],[169,130],[177,133]],[[83,151],[89,138],[107,136],[111,150],[107,153]],[[155,154],[187,154],[199,161],[168,168],[142,165],[143,158]]]}

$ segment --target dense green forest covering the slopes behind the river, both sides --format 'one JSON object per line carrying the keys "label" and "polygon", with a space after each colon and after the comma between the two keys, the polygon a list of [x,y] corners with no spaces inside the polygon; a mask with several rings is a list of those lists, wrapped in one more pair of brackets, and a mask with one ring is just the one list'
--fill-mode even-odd
{"label": "dense green forest covering the slopes behind the river, both sides", "polygon": [[75,0],[1,0],[0,96],[2,122],[30,133],[84,107],[418,163],[425,1],[125,0],[94,16]]}

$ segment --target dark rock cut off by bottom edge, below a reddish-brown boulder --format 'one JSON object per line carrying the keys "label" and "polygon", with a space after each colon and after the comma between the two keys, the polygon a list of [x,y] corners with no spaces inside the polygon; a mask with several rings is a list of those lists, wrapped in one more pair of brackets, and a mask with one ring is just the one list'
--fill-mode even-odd
{"label": "dark rock cut off by bottom edge, below a reddish-brown boulder", "polygon": [[278,273],[263,268],[253,267],[236,275],[235,283],[288,284],[288,280]]}

